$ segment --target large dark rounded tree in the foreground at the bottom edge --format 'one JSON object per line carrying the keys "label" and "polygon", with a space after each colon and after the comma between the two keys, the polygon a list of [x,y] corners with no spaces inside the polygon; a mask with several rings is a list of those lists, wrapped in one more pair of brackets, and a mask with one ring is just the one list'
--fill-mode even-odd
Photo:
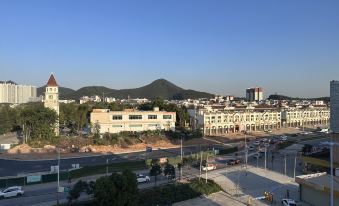
{"label": "large dark rounded tree in the foreground at the bottom edge", "polygon": [[93,192],[100,206],[134,206],[139,201],[136,176],[128,170],[97,179]]}

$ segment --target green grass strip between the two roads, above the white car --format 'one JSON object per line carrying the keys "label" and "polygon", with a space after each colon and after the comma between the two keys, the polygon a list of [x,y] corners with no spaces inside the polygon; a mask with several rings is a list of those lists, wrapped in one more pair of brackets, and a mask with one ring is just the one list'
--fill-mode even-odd
{"label": "green grass strip between the two roads, above the white car", "polygon": [[106,165],[85,166],[78,170],[70,171],[70,177],[74,179],[97,174],[105,174],[107,167],[108,173],[121,172],[124,169],[129,169],[131,171],[146,169],[145,161],[119,162],[108,164],[107,166]]}

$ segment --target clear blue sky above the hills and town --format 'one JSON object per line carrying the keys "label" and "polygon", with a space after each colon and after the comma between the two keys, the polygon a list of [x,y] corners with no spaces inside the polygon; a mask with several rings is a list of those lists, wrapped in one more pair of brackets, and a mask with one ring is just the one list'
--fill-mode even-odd
{"label": "clear blue sky above the hills and town", "polygon": [[337,0],[0,0],[0,80],[329,95]]}

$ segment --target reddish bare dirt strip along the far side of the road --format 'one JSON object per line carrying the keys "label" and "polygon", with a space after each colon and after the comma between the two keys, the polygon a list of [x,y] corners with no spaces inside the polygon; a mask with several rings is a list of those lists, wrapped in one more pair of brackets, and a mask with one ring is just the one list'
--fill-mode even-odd
{"label": "reddish bare dirt strip along the far side of the road", "polygon": [[[262,138],[265,136],[272,136],[272,135],[282,135],[282,134],[292,134],[300,132],[299,129],[294,128],[282,128],[280,130],[274,130],[272,133],[267,134],[264,132],[252,132],[250,134],[246,134],[246,138],[256,139]],[[244,134],[226,134],[223,136],[211,136],[209,139],[214,139],[223,143],[231,143],[237,142],[245,138]],[[215,145],[214,141],[209,141],[207,139],[202,138],[195,138],[184,141],[184,146],[191,146],[191,145]],[[139,143],[135,145],[128,146],[126,148],[115,147],[115,146],[92,146],[88,145],[85,147],[80,148],[79,152],[68,152],[66,150],[61,150],[63,157],[80,157],[80,156],[90,156],[90,155],[99,155],[99,154],[121,154],[121,153],[130,153],[130,152],[138,152],[144,151],[147,145],[145,143]],[[180,147],[180,141],[175,143],[167,141],[167,140],[160,140],[156,143],[151,144],[154,148],[162,148],[162,149],[169,149],[169,148],[178,148]],[[52,145],[46,145],[44,148],[31,148],[27,144],[18,145],[14,148],[6,152],[0,151],[0,158],[6,159],[23,159],[23,160],[32,160],[32,159],[54,159],[57,155],[57,149]]]}

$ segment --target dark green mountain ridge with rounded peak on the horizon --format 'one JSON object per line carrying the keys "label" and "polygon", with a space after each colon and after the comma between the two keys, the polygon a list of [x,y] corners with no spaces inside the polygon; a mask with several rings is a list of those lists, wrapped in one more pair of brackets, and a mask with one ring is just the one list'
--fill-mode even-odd
{"label": "dark green mountain ridge with rounded peak on the horizon", "polygon": [[[38,89],[38,95],[44,92],[45,87]],[[130,98],[147,98],[154,99],[162,97],[164,99],[188,99],[188,98],[209,98],[214,97],[213,94],[206,92],[199,92],[194,90],[186,90],[175,84],[165,80],[158,79],[154,82],[135,89],[110,89],[103,86],[87,86],[82,87],[76,91],[65,87],[59,87],[60,99],[75,99],[78,100],[82,96],[107,96],[118,99]]]}

